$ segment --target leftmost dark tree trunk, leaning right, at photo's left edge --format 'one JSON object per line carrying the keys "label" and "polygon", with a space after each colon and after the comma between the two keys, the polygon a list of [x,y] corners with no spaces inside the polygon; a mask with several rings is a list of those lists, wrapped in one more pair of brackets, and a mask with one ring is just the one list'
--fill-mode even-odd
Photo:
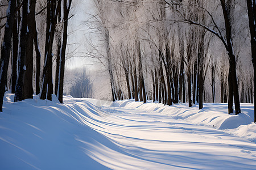
{"label": "leftmost dark tree trunk, leaning right, at photo's left edge", "polygon": [[5,95],[5,86],[7,84],[7,70],[9,66],[11,37],[13,35],[13,24],[15,18],[16,3],[14,0],[9,0],[9,11],[6,12],[5,35],[1,46],[0,60],[0,112],[3,112],[3,96]]}

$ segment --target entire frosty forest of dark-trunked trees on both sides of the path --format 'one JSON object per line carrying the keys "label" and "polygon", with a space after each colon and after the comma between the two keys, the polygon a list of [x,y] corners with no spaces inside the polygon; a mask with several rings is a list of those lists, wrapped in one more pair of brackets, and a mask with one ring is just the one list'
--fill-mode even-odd
{"label": "entire frosty forest of dark-trunked trees on both sides of the path", "polygon": [[[240,103],[254,103],[254,0],[92,3],[94,13],[84,22],[91,35],[84,57],[102,64],[112,101],[199,109],[203,103],[228,103],[228,113],[236,114]],[[0,1],[0,111],[6,91],[15,101],[33,94],[51,100],[55,94],[62,103],[68,95],[63,89],[71,7],[71,0]],[[97,93],[86,79],[72,87],[77,97]],[[87,90],[79,94],[82,86]]]}

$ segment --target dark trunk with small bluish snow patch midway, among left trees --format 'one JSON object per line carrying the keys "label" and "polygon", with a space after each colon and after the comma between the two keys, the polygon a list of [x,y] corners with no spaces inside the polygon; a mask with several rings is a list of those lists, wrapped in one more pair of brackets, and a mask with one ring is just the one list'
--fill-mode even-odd
{"label": "dark trunk with small bluish snow patch midway, among left trees", "polygon": [[14,101],[22,101],[23,83],[26,71],[26,55],[27,55],[27,17],[28,17],[28,1],[22,1],[22,27],[20,30],[20,52],[18,54],[18,78],[15,87]]}

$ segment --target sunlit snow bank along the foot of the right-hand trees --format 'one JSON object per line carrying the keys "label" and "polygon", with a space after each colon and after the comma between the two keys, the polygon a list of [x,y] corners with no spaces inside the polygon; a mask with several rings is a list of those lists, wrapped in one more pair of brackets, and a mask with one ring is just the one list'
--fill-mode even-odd
{"label": "sunlit snow bank along the foot of the right-hand trees", "polygon": [[254,104],[241,103],[242,113],[228,114],[228,104],[204,103],[204,108],[199,110],[196,105],[188,108],[187,104],[174,104],[167,106],[159,103],[135,102],[123,100],[113,103],[114,107],[137,108],[147,112],[165,114],[175,119],[182,119],[197,125],[225,129],[230,134],[249,139],[256,143],[256,124],[254,120]]}

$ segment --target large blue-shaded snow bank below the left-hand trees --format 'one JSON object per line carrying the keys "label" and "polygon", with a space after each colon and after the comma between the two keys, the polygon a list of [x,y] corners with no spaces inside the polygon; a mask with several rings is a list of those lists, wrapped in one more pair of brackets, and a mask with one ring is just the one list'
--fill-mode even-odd
{"label": "large blue-shaded snow bank below the left-hand trees", "polygon": [[105,112],[89,101],[72,103],[72,97],[66,98],[67,104],[38,96],[13,103],[13,94],[5,96],[0,113],[0,169],[108,169],[92,159],[90,151],[118,148],[88,126]]}

